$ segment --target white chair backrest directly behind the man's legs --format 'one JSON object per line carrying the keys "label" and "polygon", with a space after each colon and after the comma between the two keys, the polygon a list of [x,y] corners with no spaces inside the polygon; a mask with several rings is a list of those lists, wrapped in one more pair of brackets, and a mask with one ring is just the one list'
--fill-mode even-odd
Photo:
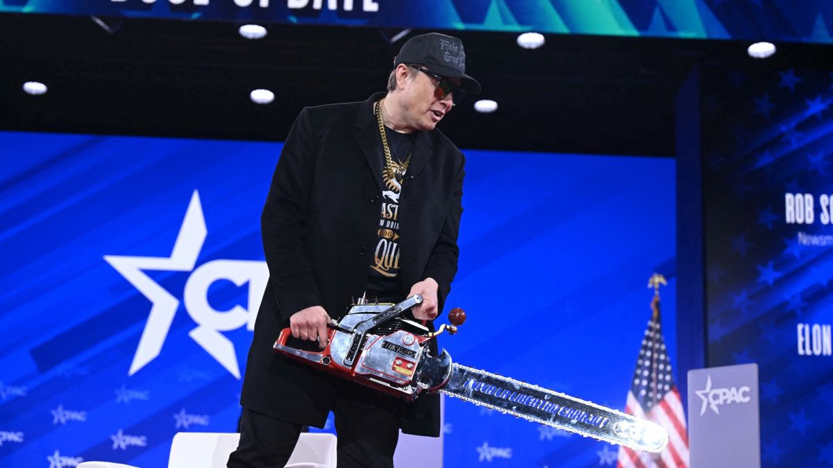
{"label": "white chair backrest directly behind the man's legs", "polygon": [[[173,436],[168,468],[225,468],[228,455],[237,448],[240,434],[179,432]],[[336,436],[303,433],[287,466],[313,464],[336,466]],[[307,465],[309,466],[309,465]]]}

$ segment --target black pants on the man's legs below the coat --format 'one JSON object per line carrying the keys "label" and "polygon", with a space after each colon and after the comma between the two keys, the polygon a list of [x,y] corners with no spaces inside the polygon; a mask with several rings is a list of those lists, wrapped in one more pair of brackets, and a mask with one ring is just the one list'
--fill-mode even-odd
{"label": "black pants on the man's legs below the coat", "polygon": [[[344,381],[332,412],[336,416],[338,468],[393,466],[402,401]],[[277,468],[287,464],[302,425],[243,409],[240,444],[228,468]]]}

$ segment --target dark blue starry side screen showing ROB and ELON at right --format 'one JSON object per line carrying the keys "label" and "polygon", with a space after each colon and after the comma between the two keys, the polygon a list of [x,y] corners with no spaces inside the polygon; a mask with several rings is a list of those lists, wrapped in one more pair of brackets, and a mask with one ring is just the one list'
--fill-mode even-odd
{"label": "dark blue starry side screen showing ROB and ELON at right", "polygon": [[833,69],[791,62],[706,70],[708,365],[758,364],[762,466],[831,466]]}

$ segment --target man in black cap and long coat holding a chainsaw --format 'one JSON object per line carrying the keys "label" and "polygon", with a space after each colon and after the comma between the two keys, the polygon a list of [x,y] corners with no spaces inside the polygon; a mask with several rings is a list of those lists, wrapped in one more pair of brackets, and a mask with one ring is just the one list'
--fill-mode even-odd
{"label": "man in black cap and long coat holding a chainsaw", "polygon": [[284,466],[302,426],[336,416],[338,466],[392,466],[399,429],[439,435],[439,401],[405,404],[272,351],[327,345],[327,321],[352,297],[402,301],[430,321],[456,273],[463,157],[437,122],[463,92],[456,37],[412,37],[394,59],[388,92],[365,102],[307,107],[277,163],[262,214],[269,282],[257,315],[241,404],[241,440],[228,466]]}

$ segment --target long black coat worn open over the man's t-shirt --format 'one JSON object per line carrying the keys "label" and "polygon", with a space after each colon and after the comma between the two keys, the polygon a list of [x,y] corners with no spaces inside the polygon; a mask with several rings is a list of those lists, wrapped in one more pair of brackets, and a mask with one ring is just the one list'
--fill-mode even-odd
{"label": "long black coat worn open over the man's t-shirt", "polygon": [[[322,427],[332,377],[272,351],[289,317],[323,306],[344,315],[367,284],[382,210],[382,142],[373,102],[306,107],[277,163],[262,213],[269,282],[257,313],[241,404],[285,421]],[[419,132],[400,197],[402,296],[426,277],[439,284],[439,308],[457,267],[464,159],[439,131]],[[311,341],[293,346],[317,350]],[[403,411],[402,431],[439,436],[439,398]]]}

